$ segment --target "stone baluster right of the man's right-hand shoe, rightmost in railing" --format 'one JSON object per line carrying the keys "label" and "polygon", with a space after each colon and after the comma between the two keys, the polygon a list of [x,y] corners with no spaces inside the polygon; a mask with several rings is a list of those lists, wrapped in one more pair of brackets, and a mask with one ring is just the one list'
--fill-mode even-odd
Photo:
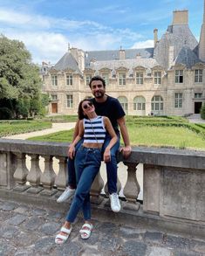
{"label": "stone baluster right of the man's right-hand shoe, rightmost in railing", "polygon": [[123,193],[126,197],[126,202],[123,204],[123,208],[137,211],[140,207],[140,203],[136,201],[140,193],[140,185],[136,177],[136,166],[138,163],[123,163],[127,166],[128,172],[126,185],[123,190]]}

